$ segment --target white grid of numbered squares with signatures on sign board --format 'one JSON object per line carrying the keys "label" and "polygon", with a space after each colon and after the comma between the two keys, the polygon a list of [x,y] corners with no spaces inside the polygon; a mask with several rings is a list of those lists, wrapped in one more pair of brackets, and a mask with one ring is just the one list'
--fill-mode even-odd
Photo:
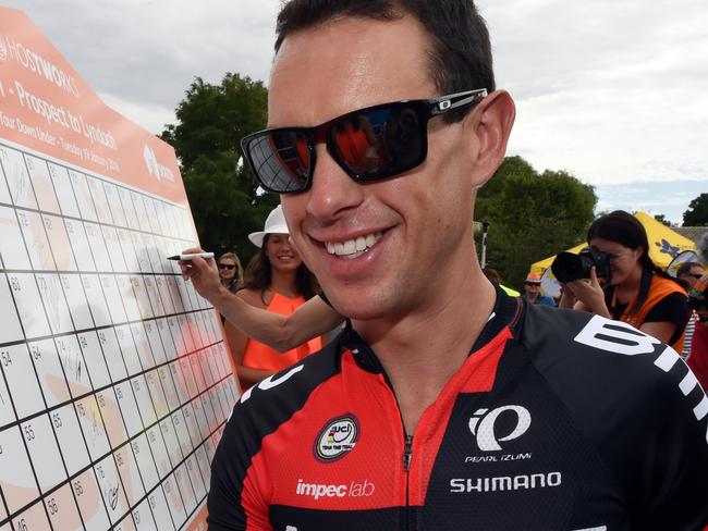
{"label": "white grid of numbered squares with signatures on sign board", "polygon": [[0,144],[0,530],[181,529],[239,398],[185,208]]}

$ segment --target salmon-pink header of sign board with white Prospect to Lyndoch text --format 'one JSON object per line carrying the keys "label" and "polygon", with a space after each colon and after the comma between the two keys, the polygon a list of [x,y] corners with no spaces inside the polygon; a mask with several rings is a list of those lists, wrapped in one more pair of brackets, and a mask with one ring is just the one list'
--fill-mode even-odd
{"label": "salmon-pink header of sign board with white Prospect to Lyndoch text", "polygon": [[0,137],[187,202],[172,147],[106,106],[24,13],[7,8],[0,8]]}

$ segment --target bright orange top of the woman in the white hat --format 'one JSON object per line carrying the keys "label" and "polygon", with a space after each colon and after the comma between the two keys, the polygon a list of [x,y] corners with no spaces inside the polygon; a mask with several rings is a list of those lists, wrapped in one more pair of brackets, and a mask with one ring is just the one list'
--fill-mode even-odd
{"label": "bright orange top of the woman in the white hat", "polygon": [[[284,297],[277,292],[273,292],[273,298],[268,305],[268,311],[280,313],[281,316],[290,316],[295,309],[305,304],[305,297],[297,297],[294,299]],[[320,337],[303,343],[302,345],[284,351],[270,348],[251,337],[246,342],[243,353],[242,365],[251,369],[260,369],[267,371],[281,371],[286,367],[300,361],[308,354],[316,353],[322,348],[322,341]]]}

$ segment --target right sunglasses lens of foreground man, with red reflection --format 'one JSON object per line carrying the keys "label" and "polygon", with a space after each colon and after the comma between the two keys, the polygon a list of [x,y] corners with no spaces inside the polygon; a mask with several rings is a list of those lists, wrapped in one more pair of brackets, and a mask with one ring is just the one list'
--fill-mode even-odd
{"label": "right sunglasses lens of foreground man, with red reflection", "polygon": [[403,173],[425,159],[427,121],[416,108],[394,104],[350,114],[330,131],[340,163],[362,180]]}

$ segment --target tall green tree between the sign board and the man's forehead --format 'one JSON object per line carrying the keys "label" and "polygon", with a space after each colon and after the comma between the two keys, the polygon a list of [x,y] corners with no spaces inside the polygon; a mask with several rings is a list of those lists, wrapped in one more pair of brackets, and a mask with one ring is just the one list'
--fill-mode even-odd
{"label": "tall green tree between the sign board and the man's forehead", "polygon": [[242,260],[256,248],[247,234],[263,229],[277,196],[259,195],[244,164],[241,138],[265,127],[268,91],[261,82],[227,73],[220,85],[196,77],[179,103],[176,124],[160,135],[174,147],[199,240]]}

